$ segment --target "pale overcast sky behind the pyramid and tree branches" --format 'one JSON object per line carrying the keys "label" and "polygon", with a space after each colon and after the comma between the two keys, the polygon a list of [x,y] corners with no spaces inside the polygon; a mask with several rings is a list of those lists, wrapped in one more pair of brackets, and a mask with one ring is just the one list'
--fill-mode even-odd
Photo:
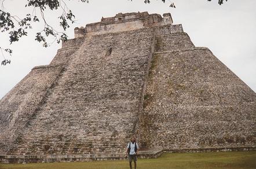
{"label": "pale overcast sky behind the pyramid and tree branches", "polygon": [[[2,3],[2,0],[0,0]],[[24,17],[32,12],[25,8],[26,0],[6,0],[5,10],[14,15]],[[176,8],[169,8],[171,2]],[[217,0],[171,0],[162,3],[152,0],[145,5],[144,0],[90,0],[82,3],[78,0],[67,2],[76,16],[76,23],[67,30],[69,38],[74,38],[75,27],[100,21],[101,17],[112,17],[116,13],[145,12],[171,13],[174,24],[182,24],[195,46],[209,47],[211,52],[233,71],[248,86],[256,91],[256,1],[229,0],[218,5]],[[39,13],[39,12],[38,12]],[[46,11],[46,20],[58,29],[59,12]],[[13,49],[12,63],[0,66],[0,98],[10,91],[36,65],[47,65],[60,49],[61,45],[53,43],[50,47],[42,47],[34,41],[35,32],[42,30],[42,25],[34,25],[27,37],[9,45],[7,34],[0,32],[0,46]],[[52,39],[50,39],[52,41]],[[4,53],[3,53],[4,54]],[[4,54],[5,58],[9,57]],[[0,53],[0,60],[3,60]]]}

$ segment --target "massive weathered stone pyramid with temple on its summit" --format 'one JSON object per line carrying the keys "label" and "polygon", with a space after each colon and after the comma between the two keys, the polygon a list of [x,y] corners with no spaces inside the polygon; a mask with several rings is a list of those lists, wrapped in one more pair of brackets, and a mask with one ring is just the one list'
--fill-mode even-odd
{"label": "massive weathered stone pyramid with temple on its summit", "polygon": [[0,101],[0,162],[115,159],[140,150],[254,150],[256,94],[170,13],[75,28]]}

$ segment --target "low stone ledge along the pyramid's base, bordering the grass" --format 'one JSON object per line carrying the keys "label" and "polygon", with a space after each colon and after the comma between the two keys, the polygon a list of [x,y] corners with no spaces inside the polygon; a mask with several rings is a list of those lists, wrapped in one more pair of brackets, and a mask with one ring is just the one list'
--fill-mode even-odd
{"label": "low stone ledge along the pyramid's base, bordering the grass", "polygon": [[[156,149],[141,150],[138,157],[141,159],[158,158],[163,153],[197,153],[197,152],[229,152],[229,151],[255,151],[255,146],[198,148],[198,149]],[[125,153],[89,153],[76,155],[0,155],[0,163],[52,163],[75,161],[105,161],[125,160]]]}

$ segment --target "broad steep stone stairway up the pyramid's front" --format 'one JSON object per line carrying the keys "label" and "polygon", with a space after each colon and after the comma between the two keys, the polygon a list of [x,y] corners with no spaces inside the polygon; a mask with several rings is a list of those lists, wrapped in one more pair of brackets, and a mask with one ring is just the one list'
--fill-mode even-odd
{"label": "broad steep stone stairway up the pyramid's front", "polygon": [[135,133],[151,35],[86,38],[10,153],[123,153]]}

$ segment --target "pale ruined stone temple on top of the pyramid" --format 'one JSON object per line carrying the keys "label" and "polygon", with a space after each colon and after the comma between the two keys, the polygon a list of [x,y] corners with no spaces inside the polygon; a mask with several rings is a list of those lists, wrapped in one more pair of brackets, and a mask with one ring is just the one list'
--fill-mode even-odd
{"label": "pale ruined stone temple on top of the pyramid", "polygon": [[100,22],[87,24],[85,28],[76,27],[75,38],[172,24],[173,19],[170,13],[164,13],[163,17],[160,14],[148,14],[148,12],[118,13],[115,17],[102,18]]}

